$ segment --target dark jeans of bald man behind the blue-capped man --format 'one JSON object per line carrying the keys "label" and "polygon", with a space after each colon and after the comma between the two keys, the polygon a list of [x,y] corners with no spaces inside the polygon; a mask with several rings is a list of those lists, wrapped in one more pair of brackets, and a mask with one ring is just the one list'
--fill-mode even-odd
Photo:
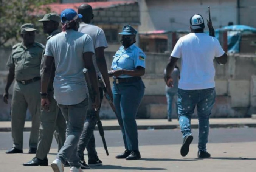
{"label": "dark jeans of bald man behind the blue-capped man", "polygon": [[[100,96],[100,101],[102,103],[102,99],[103,99],[102,88],[99,88],[99,96]],[[84,122],[84,129],[82,131],[82,134],[78,142],[78,155],[79,157],[84,157],[84,150],[86,148],[88,152],[88,159],[97,160],[98,155],[95,149],[95,138],[94,138],[93,131],[98,121],[95,116],[95,110],[92,108],[91,100],[89,100],[89,107],[86,113],[87,114],[86,114],[86,120]]]}

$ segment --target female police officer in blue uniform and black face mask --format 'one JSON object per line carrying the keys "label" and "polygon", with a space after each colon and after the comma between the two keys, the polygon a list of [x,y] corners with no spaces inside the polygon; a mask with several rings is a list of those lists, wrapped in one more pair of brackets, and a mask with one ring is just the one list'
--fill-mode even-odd
{"label": "female police officer in blue uniform and black face mask", "polygon": [[135,45],[137,31],[124,25],[121,43],[123,46],[113,56],[113,103],[118,123],[121,127],[125,151],[116,155],[117,159],[138,160],[141,158],[138,147],[138,131],[135,121],[138,107],[144,95],[145,86],[141,76],[145,74],[143,51]]}

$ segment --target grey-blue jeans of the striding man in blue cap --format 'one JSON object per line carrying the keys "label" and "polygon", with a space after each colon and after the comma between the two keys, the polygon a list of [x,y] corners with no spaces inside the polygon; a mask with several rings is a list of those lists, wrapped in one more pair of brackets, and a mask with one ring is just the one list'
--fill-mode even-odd
{"label": "grey-blue jeans of the striding man in blue cap", "polygon": [[59,150],[57,159],[61,160],[63,164],[68,160],[70,166],[80,167],[77,145],[84,126],[88,108],[88,97],[79,104],[58,104],[58,106],[61,108],[61,112],[66,120],[67,129],[66,141],[61,150]]}

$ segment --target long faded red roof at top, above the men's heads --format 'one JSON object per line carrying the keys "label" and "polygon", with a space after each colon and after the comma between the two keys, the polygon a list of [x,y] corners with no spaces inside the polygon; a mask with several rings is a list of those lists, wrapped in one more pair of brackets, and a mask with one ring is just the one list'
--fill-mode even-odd
{"label": "long faded red roof at top, above the men's heads", "polygon": [[[130,1],[107,1],[107,2],[88,2],[90,6],[92,6],[93,9],[104,9],[104,8],[111,8],[115,6],[121,6],[121,5],[130,5],[133,3],[137,3],[135,0]],[[78,7],[84,3],[52,3],[46,5],[51,9],[52,12],[56,12],[57,14],[61,14],[61,12],[66,8],[73,8],[74,10],[77,10]]]}

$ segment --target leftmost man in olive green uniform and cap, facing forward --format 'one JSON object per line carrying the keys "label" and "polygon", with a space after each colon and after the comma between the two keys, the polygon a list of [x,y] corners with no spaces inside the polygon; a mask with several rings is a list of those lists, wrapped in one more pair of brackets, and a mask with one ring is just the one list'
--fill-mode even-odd
{"label": "leftmost man in olive green uniform and cap, facing forward", "polygon": [[21,26],[23,42],[12,47],[7,66],[9,73],[3,99],[8,103],[8,90],[14,78],[11,125],[13,147],[6,153],[23,153],[23,129],[27,108],[32,116],[29,153],[36,153],[40,120],[40,64],[44,46],[35,42],[34,25]]}

